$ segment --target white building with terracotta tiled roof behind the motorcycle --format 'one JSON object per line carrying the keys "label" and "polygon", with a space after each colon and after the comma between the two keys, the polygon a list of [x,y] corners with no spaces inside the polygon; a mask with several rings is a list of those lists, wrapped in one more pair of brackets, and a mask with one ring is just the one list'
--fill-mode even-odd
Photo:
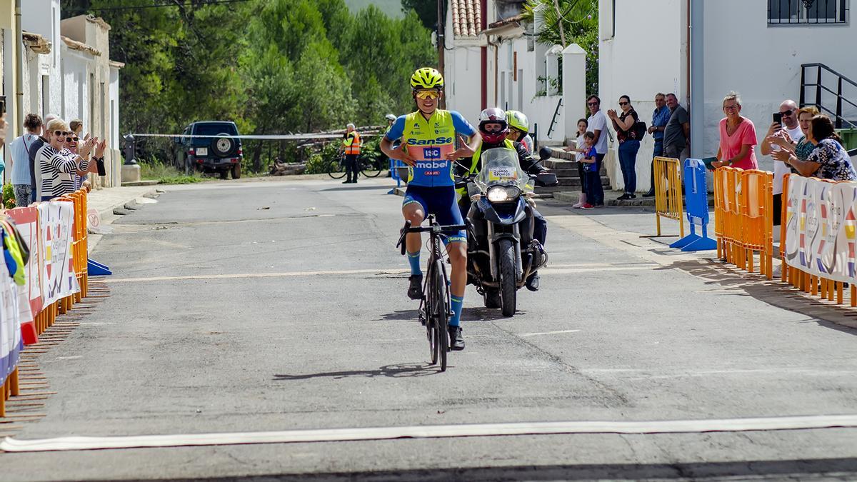
{"label": "white building with terracotta tiled roof behind the motorcycle", "polygon": [[540,15],[524,21],[522,7],[517,0],[448,2],[446,105],[471,122],[487,107],[522,111],[540,145],[561,145],[583,114],[562,99],[584,96],[585,52],[538,43]]}

